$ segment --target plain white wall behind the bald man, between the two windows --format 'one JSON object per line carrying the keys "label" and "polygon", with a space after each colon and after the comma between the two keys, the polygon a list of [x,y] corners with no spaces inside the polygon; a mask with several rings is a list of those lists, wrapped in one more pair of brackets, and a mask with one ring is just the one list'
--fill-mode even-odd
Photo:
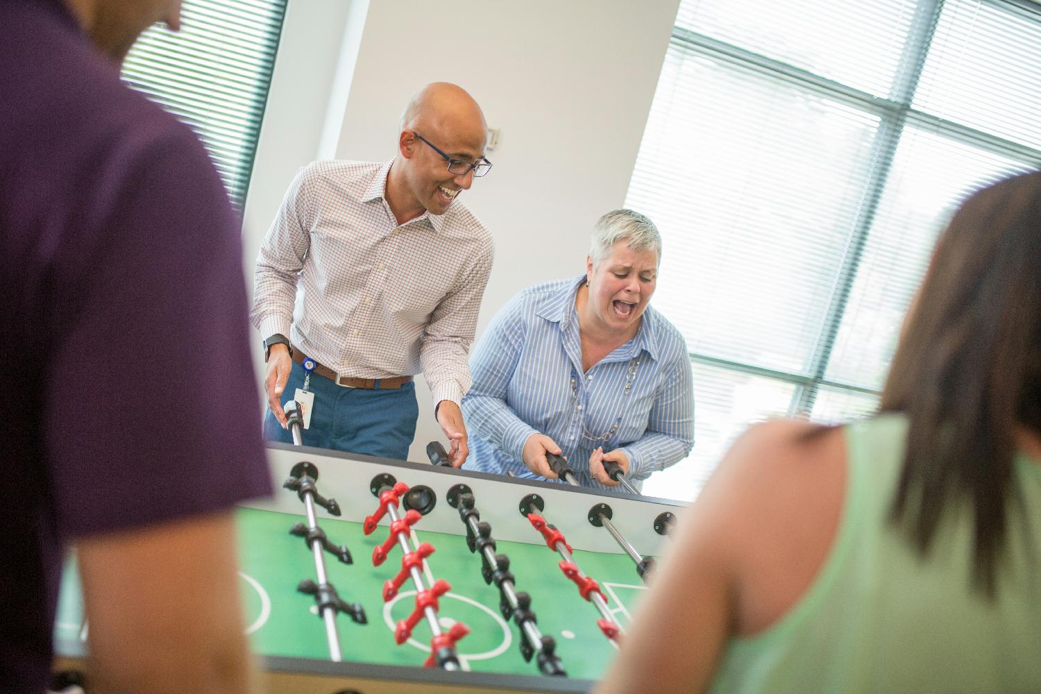
{"label": "plain white wall behind the bald man, between the two windows", "polygon": [[[435,80],[469,91],[489,126],[501,130],[487,153],[494,169],[461,199],[496,239],[479,332],[520,288],[579,274],[593,222],[625,201],[678,6],[679,0],[289,3],[246,210],[251,283],[256,249],[285,186],[318,156],[316,124],[325,125],[326,115],[340,119],[339,158],[389,159],[402,107]],[[335,95],[330,112],[334,79],[340,87],[350,83],[342,113]],[[328,147],[333,139],[327,128],[322,142]],[[417,392],[420,426],[409,458],[422,461],[426,443],[441,436],[425,384]]]}

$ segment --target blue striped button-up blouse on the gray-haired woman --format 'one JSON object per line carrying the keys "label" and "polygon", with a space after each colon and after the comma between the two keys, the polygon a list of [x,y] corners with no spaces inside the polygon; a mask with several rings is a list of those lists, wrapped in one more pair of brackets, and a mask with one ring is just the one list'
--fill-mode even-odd
{"label": "blue striped button-up blouse on the gray-haired woman", "polygon": [[556,441],[578,481],[593,487],[604,487],[589,475],[598,446],[625,451],[632,480],[690,453],[694,393],[683,336],[649,306],[636,335],[583,374],[575,310],[583,281],[528,287],[484,331],[462,401],[471,447],[463,467],[541,479],[520,459],[535,433]]}

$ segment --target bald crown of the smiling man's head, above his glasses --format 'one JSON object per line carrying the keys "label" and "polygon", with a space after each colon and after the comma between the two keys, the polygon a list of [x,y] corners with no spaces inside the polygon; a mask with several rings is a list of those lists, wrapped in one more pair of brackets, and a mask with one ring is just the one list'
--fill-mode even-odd
{"label": "bald crown of the smiling man's head, above his glasses", "polygon": [[451,82],[431,82],[415,93],[401,114],[400,130],[425,136],[452,134],[484,139],[484,113],[466,89]]}

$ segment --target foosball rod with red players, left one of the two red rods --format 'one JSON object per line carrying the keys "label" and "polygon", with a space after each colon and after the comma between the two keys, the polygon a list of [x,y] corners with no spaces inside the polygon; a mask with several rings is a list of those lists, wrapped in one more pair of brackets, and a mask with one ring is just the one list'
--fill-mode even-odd
{"label": "foosball rod with red players, left one of the two red rods", "polygon": [[[438,597],[448,592],[451,586],[449,586],[449,584],[445,581],[436,581],[434,582],[434,585],[428,589],[423,582],[423,573],[420,571],[421,562],[407,561],[407,558],[413,554],[415,557],[421,558],[422,561],[422,557],[429,556],[433,552],[433,547],[429,547],[429,548],[426,549],[422,545],[420,549],[413,549],[411,543],[409,542],[407,529],[415,524],[421,517],[421,513],[415,510],[409,510],[404,516],[402,516],[398,512],[398,498],[408,491],[408,486],[403,483],[396,482],[393,477],[390,474],[381,473],[373,479],[372,484],[370,485],[370,490],[373,492],[373,495],[380,499],[380,507],[374,516],[370,516],[365,519],[363,530],[366,534],[371,533],[375,530],[376,522],[379,521],[379,518],[383,515],[383,513],[386,513],[386,515],[389,516],[390,533],[396,537],[398,544],[401,546],[402,552],[404,554],[402,564],[403,567],[407,566],[408,575],[412,580],[413,585],[415,585],[415,589],[417,591],[416,600],[418,602],[421,596],[428,596],[425,601],[432,602],[432,605],[424,605],[422,609],[423,616],[426,617],[427,623],[430,625],[430,632],[433,635],[431,643],[441,644],[442,648],[451,649],[452,644],[465,636],[468,629],[466,629],[465,625],[461,624],[461,622],[457,622],[450,633],[446,634],[441,631],[440,624],[437,621],[437,612],[435,607],[437,605],[436,600]],[[378,565],[383,562],[386,557],[386,550],[389,548],[388,544],[389,543],[384,543],[384,545],[376,547],[376,550],[373,552],[374,564]],[[397,588],[395,588],[392,592],[388,592],[387,589],[384,589],[384,599],[388,599],[389,596],[392,596],[396,592]],[[403,625],[405,625],[405,622],[399,622],[395,633],[395,638],[398,640],[399,644],[404,643],[404,641],[408,639],[408,634],[411,633],[411,627],[414,626],[414,623],[408,624],[407,626]],[[465,631],[462,631],[461,633],[457,632],[456,626],[460,626]],[[407,631],[405,631],[406,628]],[[454,650],[448,656],[439,656],[438,653],[435,653],[435,648],[432,645],[430,658],[436,659],[437,664],[445,670],[461,669]]]}

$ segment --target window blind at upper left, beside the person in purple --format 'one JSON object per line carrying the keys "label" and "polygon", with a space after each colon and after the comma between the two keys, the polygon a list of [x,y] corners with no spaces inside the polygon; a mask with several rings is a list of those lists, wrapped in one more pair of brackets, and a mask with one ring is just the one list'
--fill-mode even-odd
{"label": "window blind at upper left, beside the person in purple", "polygon": [[184,0],[181,30],[149,28],[123,78],[196,131],[243,208],[286,0]]}

